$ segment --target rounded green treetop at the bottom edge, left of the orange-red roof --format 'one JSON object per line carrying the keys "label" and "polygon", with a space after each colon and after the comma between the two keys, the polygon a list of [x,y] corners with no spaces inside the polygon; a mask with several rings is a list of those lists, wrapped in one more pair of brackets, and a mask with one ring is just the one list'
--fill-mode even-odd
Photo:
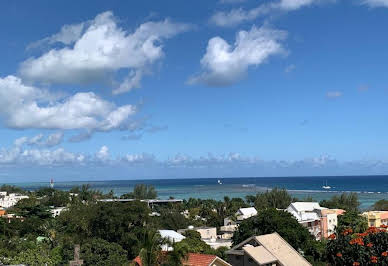
{"label": "rounded green treetop at the bottom edge, left of the orange-red roof", "polygon": [[81,247],[81,259],[85,265],[126,265],[128,264],[127,252],[116,243],[93,238]]}

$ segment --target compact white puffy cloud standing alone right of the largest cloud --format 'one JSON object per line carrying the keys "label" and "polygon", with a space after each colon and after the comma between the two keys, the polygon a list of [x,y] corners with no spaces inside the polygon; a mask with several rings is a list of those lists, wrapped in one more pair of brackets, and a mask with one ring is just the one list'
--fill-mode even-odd
{"label": "compact white puffy cloud standing alone right of the largest cloud", "polygon": [[189,79],[189,84],[231,85],[240,80],[250,66],[258,66],[272,55],[285,53],[280,41],[286,36],[284,31],[253,26],[250,31],[238,32],[233,45],[214,37],[209,40],[201,59],[203,72]]}

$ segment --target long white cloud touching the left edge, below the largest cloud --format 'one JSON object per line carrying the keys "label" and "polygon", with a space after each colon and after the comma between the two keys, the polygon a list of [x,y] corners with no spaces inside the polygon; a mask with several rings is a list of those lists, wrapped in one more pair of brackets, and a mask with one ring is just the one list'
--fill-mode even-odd
{"label": "long white cloud touching the left edge, below the largest cloud", "polygon": [[10,128],[126,130],[135,113],[134,106],[117,107],[93,92],[58,98],[18,77],[0,78],[0,117]]}

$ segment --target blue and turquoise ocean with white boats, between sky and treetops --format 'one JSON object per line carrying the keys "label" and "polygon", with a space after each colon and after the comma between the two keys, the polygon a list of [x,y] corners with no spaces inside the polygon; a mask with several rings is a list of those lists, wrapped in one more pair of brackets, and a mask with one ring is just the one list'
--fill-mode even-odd
{"label": "blue and turquoise ocean with white boats, between sky and treetops", "polygon": [[[329,177],[235,177],[197,179],[146,179],[146,180],[109,180],[55,182],[55,188],[69,190],[74,186],[90,184],[93,189],[104,193],[113,190],[119,196],[133,190],[136,184],[155,186],[158,197],[166,199],[202,198],[221,200],[224,196],[245,197],[264,192],[271,188],[285,188],[299,199],[311,196],[314,200],[329,199],[342,192],[358,194],[361,208],[367,209],[380,199],[388,199],[388,176],[329,176]],[[331,189],[322,188],[324,184]],[[49,186],[49,182],[13,183],[27,190],[36,190]]]}

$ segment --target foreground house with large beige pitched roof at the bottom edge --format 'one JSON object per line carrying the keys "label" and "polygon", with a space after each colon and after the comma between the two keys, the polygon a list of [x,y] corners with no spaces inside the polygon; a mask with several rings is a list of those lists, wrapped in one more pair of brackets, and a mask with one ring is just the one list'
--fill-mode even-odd
{"label": "foreground house with large beige pitched roof at the bottom edge", "polygon": [[226,251],[233,266],[311,265],[278,233],[252,236]]}

